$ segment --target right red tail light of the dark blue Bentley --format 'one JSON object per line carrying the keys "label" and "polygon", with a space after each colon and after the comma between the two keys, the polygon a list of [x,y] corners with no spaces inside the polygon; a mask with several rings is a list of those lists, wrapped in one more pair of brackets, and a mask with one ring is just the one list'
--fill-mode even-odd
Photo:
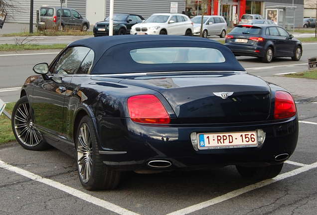
{"label": "right red tail light of the dark blue Bentley", "polygon": [[296,106],[291,94],[284,91],[275,93],[275,110],[274,118],[289,118],[296,114]]}

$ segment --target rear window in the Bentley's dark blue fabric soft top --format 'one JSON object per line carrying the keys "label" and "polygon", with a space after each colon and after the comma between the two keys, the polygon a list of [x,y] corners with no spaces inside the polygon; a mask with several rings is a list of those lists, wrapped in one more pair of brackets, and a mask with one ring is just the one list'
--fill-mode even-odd
{"label": "rear window in the Bentley's dark blue fabric soft top", "polygon": [[222,53],[214,48],[158,47],[130,51],[132,59],[141,64],[223,63]]}

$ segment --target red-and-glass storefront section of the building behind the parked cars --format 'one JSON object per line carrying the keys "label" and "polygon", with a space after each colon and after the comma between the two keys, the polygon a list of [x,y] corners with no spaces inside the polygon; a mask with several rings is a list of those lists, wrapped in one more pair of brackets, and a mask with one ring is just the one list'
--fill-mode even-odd
{"label": "red-and-glass storefront section of the building behind the parked cars", "polygon": [[[222,15],[228,25],[236,23],[236,16],[260,14],[267,18],[268,11],[275,11],[281,26],[303,26],[304,0],[186,0],[186,14]],[[295,17],[295,20],[294,20]],[[238,21],[239,21],[238,20]]]}

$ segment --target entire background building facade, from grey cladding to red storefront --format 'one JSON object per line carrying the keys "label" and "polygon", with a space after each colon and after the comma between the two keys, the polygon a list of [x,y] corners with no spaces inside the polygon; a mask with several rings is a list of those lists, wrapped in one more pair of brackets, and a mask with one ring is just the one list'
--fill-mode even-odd
{"label": "entire background building facade, from grey cladding to red storefront", "polygon": [[[60,6],[60,0],[33,0],[35,23],[36,10],[40,6]],[[222,15],[228,25],[236,23],[245,13],[261,14],[275,11],[281,26],[303,26],[304,0],[114,0],[115,13],[136,13],[147,18],[153,13],[170,12],[171,3],[177,4],[177,12],[190,17],[197,14]],[[65,0],[63,6],[75,8],[82,16],[95,24],[109,16],[110,0]],[[19,0],[21,11],[8,14],[6,21],[29,23],[30,0]],[[316,11],[316,10],[315,10]],[[295,17],[295,19],[294,19]]]}

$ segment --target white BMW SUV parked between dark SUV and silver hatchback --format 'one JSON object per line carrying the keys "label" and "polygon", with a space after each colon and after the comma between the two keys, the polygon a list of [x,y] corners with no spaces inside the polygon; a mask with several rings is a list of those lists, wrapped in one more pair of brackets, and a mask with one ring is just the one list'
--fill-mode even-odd
{"label": "white BMW SUV parked between dark SUV and silver hatchback", "polygon": [[168,34],[192,36],[193,23],[181,13],[155,13],[132,26],[130,34]]}

